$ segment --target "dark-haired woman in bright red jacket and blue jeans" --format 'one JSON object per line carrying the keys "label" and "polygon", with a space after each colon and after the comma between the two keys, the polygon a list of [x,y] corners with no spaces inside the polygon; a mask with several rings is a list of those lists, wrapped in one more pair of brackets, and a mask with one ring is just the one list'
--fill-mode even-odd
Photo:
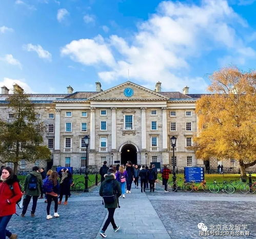
{"label": "dark-haired woman in bright red jacket and blue jeans", "polygon": [[13,175],[10,167],[2,168],[0,178],[0,239],[8,236],[11,239],[17,238],[6,229],[12,214],[16,213],[16,202],[21,199],[22,192],[19,188],[18,179]]}

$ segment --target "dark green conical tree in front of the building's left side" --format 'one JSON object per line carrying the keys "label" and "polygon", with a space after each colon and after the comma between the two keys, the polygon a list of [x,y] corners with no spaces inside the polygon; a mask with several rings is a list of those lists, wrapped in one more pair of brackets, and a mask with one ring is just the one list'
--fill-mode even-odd
{"label": "dark green conical tree in front of the building's left side", "polygon": [[7,98],[8,121],[0,120],[0,162],[13,163],[14,172],[21,160],[50,160],[50,150],[42,145],[44,125],[36,118],[35,106],[22,89]]}

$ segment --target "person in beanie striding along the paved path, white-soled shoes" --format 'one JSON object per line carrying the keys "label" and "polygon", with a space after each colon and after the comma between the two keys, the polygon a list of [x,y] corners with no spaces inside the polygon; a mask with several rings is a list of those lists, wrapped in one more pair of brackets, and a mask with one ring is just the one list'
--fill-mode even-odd
{"label": "person in beanie striding along the paved path, white-soled shoes", "polygon": [[112,224],[114,232],[120,229],[120,226],[116,226],[115,224],[114,212],[115,212],[115,209],[119,206],[118,198],[122,195],[122,191],[121,191],[119,182],[115,180],[115,174],[113,169],[109,169],[108,173],[105,174],[105,180],[102,182],[100,187],[100,196],[104,196],[103,195],[104,188],[106,188],[108,186],[107,184],[109,183],[113,184],[113,189],[114,189],[114,192],[116,193],[116,198],[113,203],[110,203],[110,204],[105,203],[105,208],[108,209],[108,218],[100,232],[100,235],[102,237],[107,237],[105,231],[107,230],[110,223]]}

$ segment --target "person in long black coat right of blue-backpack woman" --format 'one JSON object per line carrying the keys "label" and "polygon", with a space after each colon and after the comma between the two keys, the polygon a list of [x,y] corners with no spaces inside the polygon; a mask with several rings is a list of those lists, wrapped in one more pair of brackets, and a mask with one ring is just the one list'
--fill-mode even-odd
{"label": "person in long black coat right of blue-backpack woman", "polygon": [[61,177],[60,201],[58,201],[58,204],[62,204],[62,198],[63,198],[63,195],[65,195],[64,205],[67,205],[68,204],[68,195],[70,194],[71,173],[69,172],[68,168],[63,168],[63,169],[61,169],[60,172],[58,172],[58,174]]}

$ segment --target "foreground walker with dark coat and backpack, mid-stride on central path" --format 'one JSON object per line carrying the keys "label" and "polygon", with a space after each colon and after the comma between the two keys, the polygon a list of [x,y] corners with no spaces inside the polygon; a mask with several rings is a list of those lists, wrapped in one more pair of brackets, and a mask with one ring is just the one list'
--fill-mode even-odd
{"label": "foreground walker with dark coat and backpack, mid-stride on central path", "polygon": [[109,201],[107,199],[104,199],[105,208],[108,209],[108,218],[100,232],[100,235],[102,237],[107,237],[105,231],[107,230],[110,223],[112,224],[114,232],[120,229],[120,226],[116,226],[115,224],[114,212],[115,209],[119,207],[118,198],[122,195],[122,191],[120,188],[120,184],[115,180],[114,170],[112,169],[109,169],[108,173],[105,175],[105,181],[103,181],[100,187],[100,196],[104,198],[104,195],[107,194],[109,190],[111,190],[110,193],[113,194],[113,197],[108,197]]}

